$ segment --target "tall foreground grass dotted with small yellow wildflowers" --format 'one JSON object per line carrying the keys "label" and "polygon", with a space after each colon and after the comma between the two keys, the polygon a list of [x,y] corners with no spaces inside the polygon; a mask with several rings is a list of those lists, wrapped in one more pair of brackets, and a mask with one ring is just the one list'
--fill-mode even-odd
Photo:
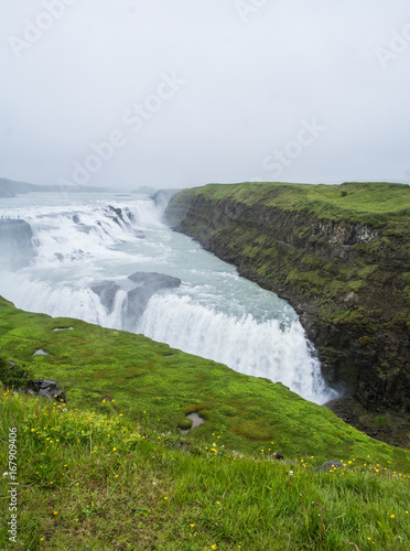
{"label": "tall foreground grass dotted with small yellow wildflowers", "polygon": [[370,454],[321,473],[313,468],[314,456],[282,462],[269,458],[266,447],[238,454],[217,434],[201,443],[154,430],[142,436],[142,423],[118,413],[115,402],[104,402],[96,413],[2,392],[3,465],[12,428],[18,542],[8,542],[4,497],[12,469],[6,467],[1,549],[337,551],[355,544],[360,551],[404,551],[410,545],[408,475]]}

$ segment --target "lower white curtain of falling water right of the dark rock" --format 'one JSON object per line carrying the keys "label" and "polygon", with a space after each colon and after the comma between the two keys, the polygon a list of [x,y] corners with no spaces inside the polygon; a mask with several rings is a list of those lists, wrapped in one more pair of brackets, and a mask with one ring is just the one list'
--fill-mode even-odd
{"label": "lower white curtain of falling water right of the dark rock", "polygon": [[298,320],[281,328],[277,320],[257,323],[251,314],[230,318],[186,295],[166,294],[150,300],[137,329],[236,371],[256,377],[269,374],[271,380],[280,380],[306,399],[317,399],[317,363]]}

